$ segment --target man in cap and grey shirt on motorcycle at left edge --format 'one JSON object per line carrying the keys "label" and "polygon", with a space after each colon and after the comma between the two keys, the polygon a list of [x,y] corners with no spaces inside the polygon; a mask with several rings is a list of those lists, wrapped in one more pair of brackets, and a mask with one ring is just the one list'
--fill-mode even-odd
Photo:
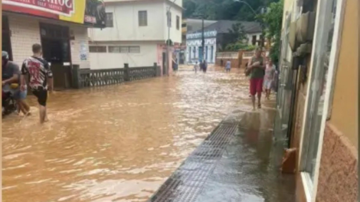
{"label": "man in cap and grey shirt on motorcycle at left edge", "polygon": [[4,91],[11,92],[19,109],[24,115],[30,115],[30,106],[25,102],[27,91],[20,91],[20,69],[13,61],[9,61],[9,54],[2,51],[2,86]]}

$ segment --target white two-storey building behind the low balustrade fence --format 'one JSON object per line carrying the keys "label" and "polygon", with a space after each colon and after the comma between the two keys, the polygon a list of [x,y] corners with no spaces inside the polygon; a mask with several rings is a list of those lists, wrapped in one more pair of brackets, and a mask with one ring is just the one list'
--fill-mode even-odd
{"label": "white two-storey building behind the low balustrade fence", "polygon": [[[105,5],[107,27],[89,29],[91,68],[121,68],[124,63],[131,68],[158,63],[164,70],[167,9],[170,8],[170,40],[179,45],[182,0],[175,3],[170,0],[105,0]],[[171,61],[174,48],[170,51]]]}

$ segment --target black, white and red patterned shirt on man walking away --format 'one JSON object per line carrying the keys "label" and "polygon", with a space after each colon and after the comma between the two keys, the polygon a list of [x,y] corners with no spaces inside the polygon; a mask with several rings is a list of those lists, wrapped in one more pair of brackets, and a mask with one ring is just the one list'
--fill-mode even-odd
{"label": "black, white and red patterned shirt on man walking away", "polygon": [[24,60],[21,67],[22,74],[30,74],[29,86],[33,90],[47,89],[47,77],[53,78],[49,63],[42,59],[31,56]]}

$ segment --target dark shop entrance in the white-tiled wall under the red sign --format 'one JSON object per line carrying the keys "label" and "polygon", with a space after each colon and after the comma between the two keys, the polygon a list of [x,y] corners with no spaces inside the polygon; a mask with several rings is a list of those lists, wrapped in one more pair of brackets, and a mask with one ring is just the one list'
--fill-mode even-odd
{"label": "dark shop entrance in the white-tiled wall under the red sign", "polygon": [[54,88],[70,88],[72,80],[69,28],[40,23],[40,35],[43,57],[51,63],[54,74]]}

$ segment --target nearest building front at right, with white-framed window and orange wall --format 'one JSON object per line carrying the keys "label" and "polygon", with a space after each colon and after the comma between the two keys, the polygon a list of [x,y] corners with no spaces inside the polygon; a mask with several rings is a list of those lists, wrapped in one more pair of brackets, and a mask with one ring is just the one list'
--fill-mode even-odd
{"label": "nearest building front at right, with white-framed window and orange wall", "polygon": [[[299,202],[358,199],[358,15],[351,0],[284,1],[274,131],[296,149]],[[311,35],[294,29],[304,16]]]}

